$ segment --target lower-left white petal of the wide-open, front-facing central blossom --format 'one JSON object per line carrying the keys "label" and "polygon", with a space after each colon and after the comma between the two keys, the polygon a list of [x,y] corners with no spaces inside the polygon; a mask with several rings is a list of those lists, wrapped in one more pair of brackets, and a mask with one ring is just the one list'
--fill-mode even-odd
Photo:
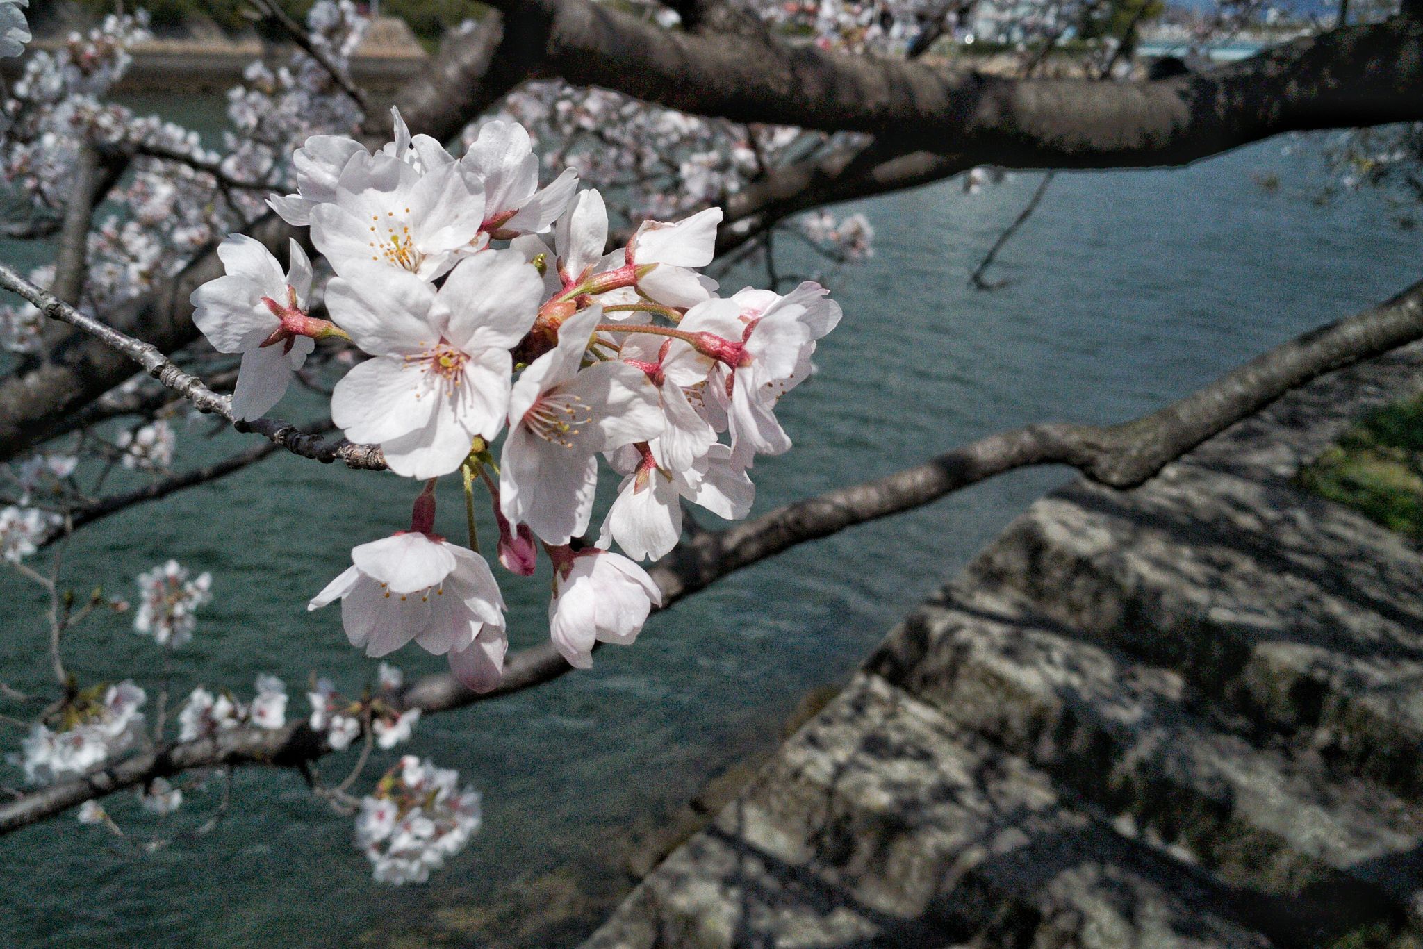
{"label": "lower-left white petal of the wide-open, front-facing central blossom", "polygon": [[359,363],[336,383],[332,421],[351,441],[383,442],[424,430],[438,401],[418,369],[383,356]]}

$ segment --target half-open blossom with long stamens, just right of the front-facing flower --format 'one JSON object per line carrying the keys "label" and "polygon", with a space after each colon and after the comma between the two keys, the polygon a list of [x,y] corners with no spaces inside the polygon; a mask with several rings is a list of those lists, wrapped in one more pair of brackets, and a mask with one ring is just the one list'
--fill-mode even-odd
{"label": "half-open blossom with long stamens, just right of the front-facing flower", "polygon": [[588,528],[598,452],[662,434],[657,394],[640,370],[616,361],[582,369],[601,316],[595,304],[569,317],[558,346],[524,370],[509,396],[499,504],[548,544]]}

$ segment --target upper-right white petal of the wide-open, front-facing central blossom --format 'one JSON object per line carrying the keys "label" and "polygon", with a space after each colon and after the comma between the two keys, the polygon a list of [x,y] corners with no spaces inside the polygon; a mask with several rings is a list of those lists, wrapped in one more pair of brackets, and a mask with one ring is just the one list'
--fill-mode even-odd
{"label": "upper-right white petal of the wide-open, front-facing central blossom", "polygon": [[512,349],[538,316],[544,279],[518,250],[485,250],[461,262],[440,289],[450,310],[450,341],[477,349]]}

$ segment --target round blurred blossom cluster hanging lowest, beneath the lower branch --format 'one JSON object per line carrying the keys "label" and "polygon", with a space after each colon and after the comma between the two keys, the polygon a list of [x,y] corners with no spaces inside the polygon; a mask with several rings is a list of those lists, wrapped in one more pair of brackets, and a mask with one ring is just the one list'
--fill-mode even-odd
{"label": "round blurred blossom cluster hanging lowest, beneath the lower branch", "polygon": [[383,884],[424,882],[480,829],[480,794],[460,775],[407,754],[360,802],[356,845]]}

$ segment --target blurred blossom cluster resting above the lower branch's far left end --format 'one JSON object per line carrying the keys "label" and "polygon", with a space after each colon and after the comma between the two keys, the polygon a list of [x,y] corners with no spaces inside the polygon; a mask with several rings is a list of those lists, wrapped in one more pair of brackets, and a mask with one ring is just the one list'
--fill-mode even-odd
{"label": "blurred blossom cluster resting above the lower branch's far left end", "polygon": [[144,733],[148,696],[132,682],[94,686],[68,700],[50,724],[37,723],[9,756],[30,784],[78,777],[131,748]]}

